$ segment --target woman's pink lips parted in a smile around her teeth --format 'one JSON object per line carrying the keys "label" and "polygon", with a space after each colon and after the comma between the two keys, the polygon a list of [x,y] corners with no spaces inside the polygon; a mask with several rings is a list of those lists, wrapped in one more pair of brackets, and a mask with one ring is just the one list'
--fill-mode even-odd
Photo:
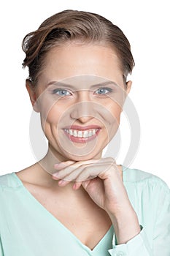
{"label": "woman's pink lips parted in a smile around her teeth", "polygon": [[[83,129],[82,129],[83,128]],[[88,138],[79,138],[79,137],[74,137],[73,135],[69,135],[65,129],[77,129],[77,130],[87,130],[87,129],[97,129],[96,131],[96,134],[95,135],[92,135],[91,137],[88,137]],[[64,128],[63,129],[63,132],[64,134],[67,136],[67,138],[69,138],[69,140],[71,140],[72,142],[75,142],[75,143],[87,143],[88,141],[90,140],[94,140],[97,136],[98,136],[98,133],[101,131],[101,127],[98,127],[96,125],[90,125],[90,126],[87,126],[87,127],[80,127],[80,126],[72,126],[72,127],[69,127],[69,128]]]}

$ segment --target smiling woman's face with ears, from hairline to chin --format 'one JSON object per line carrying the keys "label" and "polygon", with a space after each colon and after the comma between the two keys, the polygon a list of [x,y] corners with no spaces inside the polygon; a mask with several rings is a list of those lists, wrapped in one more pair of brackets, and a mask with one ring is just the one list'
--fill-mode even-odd
{"label": "smiling woman's face with ears, from hairline to chin", "polygon": [[125,90],[120,61],[110,47],[72,42],[51,49],[35,93],[28,91],[36,99],[34,109],[41,114],[55,157],[60,161],[101,158],[117,132],[130,87],[129,81]]}

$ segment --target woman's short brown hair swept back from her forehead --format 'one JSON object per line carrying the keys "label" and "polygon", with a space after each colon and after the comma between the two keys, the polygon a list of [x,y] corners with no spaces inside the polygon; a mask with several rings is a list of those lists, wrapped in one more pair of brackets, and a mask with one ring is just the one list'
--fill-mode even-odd
{"label": "woman's short brown hair swept back from her forehead", "polygon": [[132,72],[134,59],[128,39],[117,26],[101,15],[65,10],[47,18],[34,32],[23,39],[23,51],[26,59],[23,67],[28,67],[29,78],[37,82],[42,70],[45,54],[56,45],[79,40],[81,42],[106,42],[116,50],[120,59],[123,77]]}

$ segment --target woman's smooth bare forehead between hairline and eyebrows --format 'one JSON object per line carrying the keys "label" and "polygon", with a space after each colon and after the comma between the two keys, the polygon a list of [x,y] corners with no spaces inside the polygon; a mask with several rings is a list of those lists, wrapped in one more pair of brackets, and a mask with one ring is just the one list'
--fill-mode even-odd
{"label": "woman's smooth bare forehead between hairline and eyebrows", "polygon": [[111,47],[74,42],[56,46],[48,51],[41,76],[47,81],[80,75],[115,80],[122,78],[120,66],[120,59]]}

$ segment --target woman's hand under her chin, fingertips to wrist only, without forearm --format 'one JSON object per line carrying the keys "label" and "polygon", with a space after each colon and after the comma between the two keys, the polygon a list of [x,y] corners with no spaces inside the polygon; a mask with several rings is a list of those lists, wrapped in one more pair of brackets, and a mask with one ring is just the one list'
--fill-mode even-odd
{"label": "woman's hand under her chin, fingertips to wrist only, without forearm", "polygon": [[59,186],[64,187],[71,181],[74,181],[73,189],[79,189],[82,185],[92,200],[108,213],[116,214],[130,204],[122,171],[111,157],[61,162],[55,165],[55,169],[58,172],[53,174],[53,178],[60,180]]}

